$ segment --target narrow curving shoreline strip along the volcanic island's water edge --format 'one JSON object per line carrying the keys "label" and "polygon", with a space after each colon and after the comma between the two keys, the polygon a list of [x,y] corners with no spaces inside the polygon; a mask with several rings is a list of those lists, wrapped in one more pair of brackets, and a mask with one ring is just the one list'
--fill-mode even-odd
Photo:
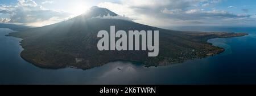
{"label": "narrow curving shoreline strip along the volcanic island's water edge", "polygon": [[[213,37],[213,38],[232,38],[232,37],[242,37],[242,36],[246,36],[248,35],[248,33],[232,33],[232,35],[227,35],[227,36],[219,36],[219,37]],[[6,35],[6,36],[11,36],[11,35]],[[16,36],[12,36],[12,37],[16,37]],[[17,37],[17,38],[20,38],[20,37]],[[208,40],[210,39],[213,39],[213,38],[208,38]],[[26,47],[24,47],[22,45],[22,41],[20,41],[20,46],[22,46],[23,50],[21,51],[20,53],[20,56],[22,59],[26,60],[27,62],[33,64],[34,66],[36,67],[39,67],[39,68],[47,68],[47,69],[61,69],[61,68],[76,68],[76,69],[90,69],[90,68],[94,68],[94,67],[98,67],[98,66],[103,66],[104,64],[106,63],[109,63],[109,62],[114,62],[114,61],[125,61],[125,62],[136,62],[136,63],[141,63],[144,65],[144,67],[157,67],[157,66],[148,66],[147,64],[144,64],[143,62],[139,62],[139,61],[133,61],[133,60],[113,60],[113,61],[108,61],[104,64],[96,64],[98,66],[92,66],[92,67],[77,67],[77,66],[72,66],[72,65],[65,65],[65,66],[60,66],[59,64],[41,64],[41,63],[38,63],[38,62],[34,62],[33,60],[31,60],[30,58],[26,57],[24,55],[24,50],[26,50]],[[209,43],[207,41],[204,41],[205,43],[208,43],[208,45],[210,46],[213,46],[212,43]],[[218,46],[214,46],[214,47],[218,47]],[[188,60],[194,60],[194,59],[201,59],[201,58],[207,58],[209,56],[214,56],[214,55],[217,55],[217,54],[220,54],[220,53],[223,53],[225,51],[224,48],[222,47],[218,47],[217,50],[214,50],[215,52],[214,53],[210,53],[210,54],[206,54],[206,56],[203,56],[203,57],[200,57],[200,56],[197,56],[196,58],[189,58],[189,59],[176,59],[172,62],[164,59],[162,62],[159,62],[158,63],[158,66],[168,66],[168,65],[172,65],[172,64],[179,64],[179,63],[183,63],[183,62],[186,62]]]}

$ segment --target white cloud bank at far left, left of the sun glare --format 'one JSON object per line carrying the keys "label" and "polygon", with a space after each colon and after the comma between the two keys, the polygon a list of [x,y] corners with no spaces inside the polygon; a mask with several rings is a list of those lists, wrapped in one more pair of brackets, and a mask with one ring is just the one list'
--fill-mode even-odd
{"label": "white cloud bank at far left, left of the sun glare", "polygon": [[57,20],[60,20],[69,16],[69,14],[65,12],[48,10],[32,0],[18,0],[18,3],[15,6],[0,5],[0,14],[10,15],[9,23],[23,24],[31,24],[47,20],[54,21],[52,19],[56,18],[53,17],[57,17],[59,18]]}

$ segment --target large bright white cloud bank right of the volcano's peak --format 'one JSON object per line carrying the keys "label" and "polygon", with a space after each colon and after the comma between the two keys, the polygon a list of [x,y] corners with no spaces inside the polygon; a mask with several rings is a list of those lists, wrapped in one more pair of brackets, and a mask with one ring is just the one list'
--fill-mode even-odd
{"label": "large bright white cloud bank right of the volcano's peak", "polygon": [[[118,3],[104,2],[98,6],[109,8],[117,14],[124,14],[133,21],[157,27],[168,25],[220,24],[223,20],[246,19],[251,15],[234,14],[224,10],[209,10],[221,0],[126,0]],[[240,20],[241,21],[241,20]]]}

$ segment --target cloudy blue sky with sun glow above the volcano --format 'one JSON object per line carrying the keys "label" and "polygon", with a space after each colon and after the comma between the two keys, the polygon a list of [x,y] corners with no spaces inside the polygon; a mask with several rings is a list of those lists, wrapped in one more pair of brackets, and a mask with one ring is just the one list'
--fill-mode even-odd
{"label": "cloudy blue sky with sun glow above the volcano", "polygon": [[73,18],[92,6],[155,27],[256,27],[255,0],[1,0],[0,23],[40,27]]}

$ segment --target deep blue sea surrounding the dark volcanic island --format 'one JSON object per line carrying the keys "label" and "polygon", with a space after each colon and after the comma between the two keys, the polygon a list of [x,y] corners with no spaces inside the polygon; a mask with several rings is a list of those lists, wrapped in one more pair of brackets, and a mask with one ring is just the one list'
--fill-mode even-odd
{"label": "deep blue sea surrounding the dark volcanic island", "polygon": [[[224,53],[181,64],[145,68],[112,62],[87,70],[38,68],[20,58],[21,39],[0,29],[0,84],[256,84],[256,28],[170,27],[175,30],[246,32],[249,36],[208,40]],[[121,68],[119,70],[118,68]]]}

